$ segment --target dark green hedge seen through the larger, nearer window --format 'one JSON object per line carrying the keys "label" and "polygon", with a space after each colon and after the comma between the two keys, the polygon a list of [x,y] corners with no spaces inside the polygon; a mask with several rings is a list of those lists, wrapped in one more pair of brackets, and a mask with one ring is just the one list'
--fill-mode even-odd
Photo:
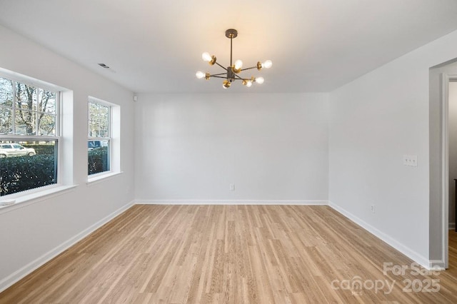
{"label": "dark green hedge seen through the larger, nearer window", "polygon": [[0,158],[0,196],[56,183],[52,155]]}

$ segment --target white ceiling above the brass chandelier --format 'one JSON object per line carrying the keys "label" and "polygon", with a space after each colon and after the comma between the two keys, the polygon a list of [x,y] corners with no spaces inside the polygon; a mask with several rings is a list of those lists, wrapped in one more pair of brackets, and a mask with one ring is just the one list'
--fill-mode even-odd
{"label": "white ceiling above the brass chandelier", "polygon": [[456,30],[457,0],[0,0],[0,24],[137,93],[224,90],[195,72],[224,71],[201,53],[228,66],[233,28],[233,60],[273,67],[230,91],[318,92]]}

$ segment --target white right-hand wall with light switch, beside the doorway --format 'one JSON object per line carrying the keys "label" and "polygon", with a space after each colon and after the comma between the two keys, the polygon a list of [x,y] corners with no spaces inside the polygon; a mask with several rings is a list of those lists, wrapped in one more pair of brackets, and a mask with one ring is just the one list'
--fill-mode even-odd
{"label": "white right-hand wall with light switch, beside the doorway", "polygon": [[[330,94],[330,201],[423,265],[429,208],[439,204],[429,204],[428,73],[456,49],[457,31]],[[404,154],[418,167],[403,166]]]}

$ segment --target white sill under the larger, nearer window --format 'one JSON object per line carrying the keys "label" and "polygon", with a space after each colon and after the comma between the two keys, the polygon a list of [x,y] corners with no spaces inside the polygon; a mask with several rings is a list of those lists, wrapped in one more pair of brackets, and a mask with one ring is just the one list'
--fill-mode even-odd
{"label": "white sill under the larger, nearer window", "polygon": [[0,203],[2,201],[9,201],[14,200],[15,203],[6,206],[0,206],[0,214],[7,213],[10,211],[14,211],[19,208],[23,208],[29,206],[33,203],[38,203],[39,201],[44,201],[48,198],[53,198],[54,196],[61,196],[64,193],[71,191],[72,189],[76,188],[78,185],[71,185],[71,186],[62,186],[62,185],[55,185],[51,188],[47,188],[43,191],[36,191],[34,193],[26,194],[24,191],[24,195],[13,196],[12,198],[0,198]]}

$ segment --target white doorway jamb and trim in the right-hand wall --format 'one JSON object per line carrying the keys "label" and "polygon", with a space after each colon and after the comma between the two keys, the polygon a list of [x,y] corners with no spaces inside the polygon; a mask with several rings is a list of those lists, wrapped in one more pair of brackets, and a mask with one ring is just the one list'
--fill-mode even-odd
{"label": "white doorway jamb and trim in the right-hand wall", "polygon": [[[457,59],[433,66],[429,71],[429,81],[429,267],[448,268],[449,223],[452,225],[456,222],[454,217],[450,218],[455,203],[453,201],[455,192],[450,193],[450,191],[455,190],[453,179],[457,178],[457,171],[454,173],[453,165],[457,162],[457,153],[456,157],[451,155],[450,158],[450,153],[453,154],[453,151],[449,151],[450,144],[451,149],[454,149],[454,146],[457,147],[457,133],[453,135],[454,130],[457,130],[457,115],[453,118],[453,113],[451,116],[449,113],[449,86],[451,85],[452,89],[455,88]],[[453,96],[451,92],[451,98]],[[451,105],[451,111],[454,112],[454,103]],[[449,123],[452,123],[451,128],[453,128],[451,135]],[[457,151],[457,148],[455,149]],[[450,166],[453,166],[451,170]],[[457,170],[457,166],[455,168]]]}

